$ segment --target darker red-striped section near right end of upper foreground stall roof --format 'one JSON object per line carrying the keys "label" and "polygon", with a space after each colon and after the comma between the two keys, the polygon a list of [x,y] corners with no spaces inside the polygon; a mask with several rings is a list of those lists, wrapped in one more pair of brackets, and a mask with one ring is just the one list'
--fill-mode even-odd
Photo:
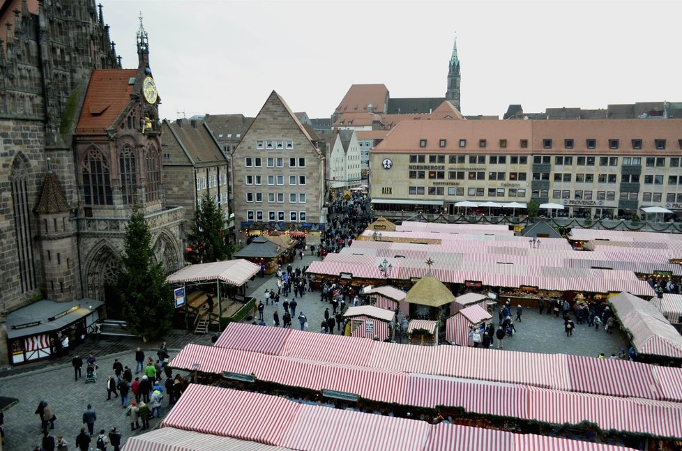
{"label": "darker red-striped section near right end of upper foreground stall roof", "polygon": [[[661,399],[654,366],[612,358],[566,356],[568,379],[576,392]],[[682,398],[682,392],[679,394]]]}

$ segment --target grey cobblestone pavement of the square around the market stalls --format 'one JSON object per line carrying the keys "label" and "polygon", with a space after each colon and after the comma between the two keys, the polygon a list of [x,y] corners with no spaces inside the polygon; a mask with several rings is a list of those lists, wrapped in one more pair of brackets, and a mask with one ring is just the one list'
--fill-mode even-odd
{"label": "grey cobblestone pavement of the square around the market stalls", "polygon": [[[291,263],[294,268],[303,268],[305,265],[315,260],[310,256],[310,251],[303,257],[303,260],[296,260]],[[277,290],[277,283],[273,276],[263,278],[256,277],[249,282],[247,292],[250,296],[262,299],[265,289]],[[291,300],[289,296],[289,300]],[[310,330],[317,332],[319,324],[324,317],[324,309],[331,306],[328,303],[320,302],[319,291],[308,292],[303,298],[297,299],[297,312],[304,312],[308,316]],[[284,302],[282,296],[281,302]],[[281,305],[280,305],[281,307]],[[271,304],[266,306],[265,319],[268,325],[272,324],[272,314],[275,307]],[[515,311],[515,309],[513,309]],[[283,309],[280,308],[280,321]],[[497,320],[497,312],[494,312],[494,319]],[[292,327],[298,328],[298,321],[292,319]],[[618,353],[624,346],[623,339],[618,332],[613,335],[606,334],[603,328],[594,330],[587,326],[576,325],[573,337],[566,337],[563,332],[563,321],[554,319],[553,316],[538,315],[535,309],[525,309],[522,321],[517,323],[518,334],[514,337],[507,337],[504,342],[504,349],[513,351],[531,351],[541,353],[571,353],[584,356],[597,356],[603,352],[607,356],[610,353]],[[335,331],[338,333],[338,331]],[[187,343],[211,344],[211,335],[194,335],[184,330],[173,330],[165,338],[171,356],[174,356]],[[146,356],[155,356],[158,349],[158,342],[142,344],[138,339],[126,337],[109,337],[100,342],[87,341],[77,349],[72,350],[68,357],[56,358],[47,362],[36,362],[29,365],[21,365],[12,369],[0,371],[0,395],[16,397],[20,403],[10,408],[5,413],[6,440],[3,444],[4,450],[30,450],[40,443],[40,420],[36,411],[38,402],[45,400],[54,406],[57,417],[55,429],[51,433],[56,436],[63,434],[68,440],[70,449],[75,448],[75,436],[80,431],[82,425],[82,412],[87,404],[91,403],[97,413],[96,431],[105,429],[107,432],[111,427],[116,427],[123,435],[123,443],[130,434],[139,434],[130,431],[130,424],[125,415],[125,410],[121,406],[120,399],[106,401],[107,391],[105,381],[108,374],[113,374],[112,365],[114,358],[119,358],[123,365],[135,368],[135,348],[141,346]],[[495,343],[497,346],[497,342]],[[73,368],[70,359],[77,352],[86,357],[93,352],[98,356],[100,369],[98,371],[98,381],[96,383],[85,383],[85,379],[74,381]],[[165,396],[163,401],[163,413],[169,410],[167,407],[168,399]],[[158,419],[151,420],[151,427],[154,427]],[[91,443],[94,447],[94,443]]]}

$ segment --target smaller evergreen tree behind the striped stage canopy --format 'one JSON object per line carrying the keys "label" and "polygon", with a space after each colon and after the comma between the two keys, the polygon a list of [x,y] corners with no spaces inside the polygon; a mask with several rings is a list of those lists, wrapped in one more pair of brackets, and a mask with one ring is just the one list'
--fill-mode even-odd
{"label": "smaller evergreen tree behind the striped stage canopy", "polygon": [[192,252],[189,259],[192,263],[211,263],[232,258],[234,245],[228,243],[227,224],[215,201],[204,194],[202,204],[197,208],[194,224],[188,236]]}

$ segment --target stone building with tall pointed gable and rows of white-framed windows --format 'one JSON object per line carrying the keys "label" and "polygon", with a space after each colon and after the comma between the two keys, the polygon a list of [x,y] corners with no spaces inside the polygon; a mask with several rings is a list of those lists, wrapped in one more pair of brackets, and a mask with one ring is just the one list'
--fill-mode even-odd
{"label": "stone building with tall pointed gable and rows of white-framed windows", "polygon": [[324,229],[324,153],[273,91],[232,152],[236,228]]}

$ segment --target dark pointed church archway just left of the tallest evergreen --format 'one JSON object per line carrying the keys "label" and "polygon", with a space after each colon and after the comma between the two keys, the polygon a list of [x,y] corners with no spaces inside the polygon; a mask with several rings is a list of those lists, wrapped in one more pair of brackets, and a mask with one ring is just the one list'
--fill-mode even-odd
{"label": "dark pointed church archway just left of the tallest evergreen", "polygon": [[116,278],[121,264],[119,257],[111,247],[103,244],[93,250],[89,261],[86,296],[103,301],[109,318],[121,318],[121,300],[116,296]]}

